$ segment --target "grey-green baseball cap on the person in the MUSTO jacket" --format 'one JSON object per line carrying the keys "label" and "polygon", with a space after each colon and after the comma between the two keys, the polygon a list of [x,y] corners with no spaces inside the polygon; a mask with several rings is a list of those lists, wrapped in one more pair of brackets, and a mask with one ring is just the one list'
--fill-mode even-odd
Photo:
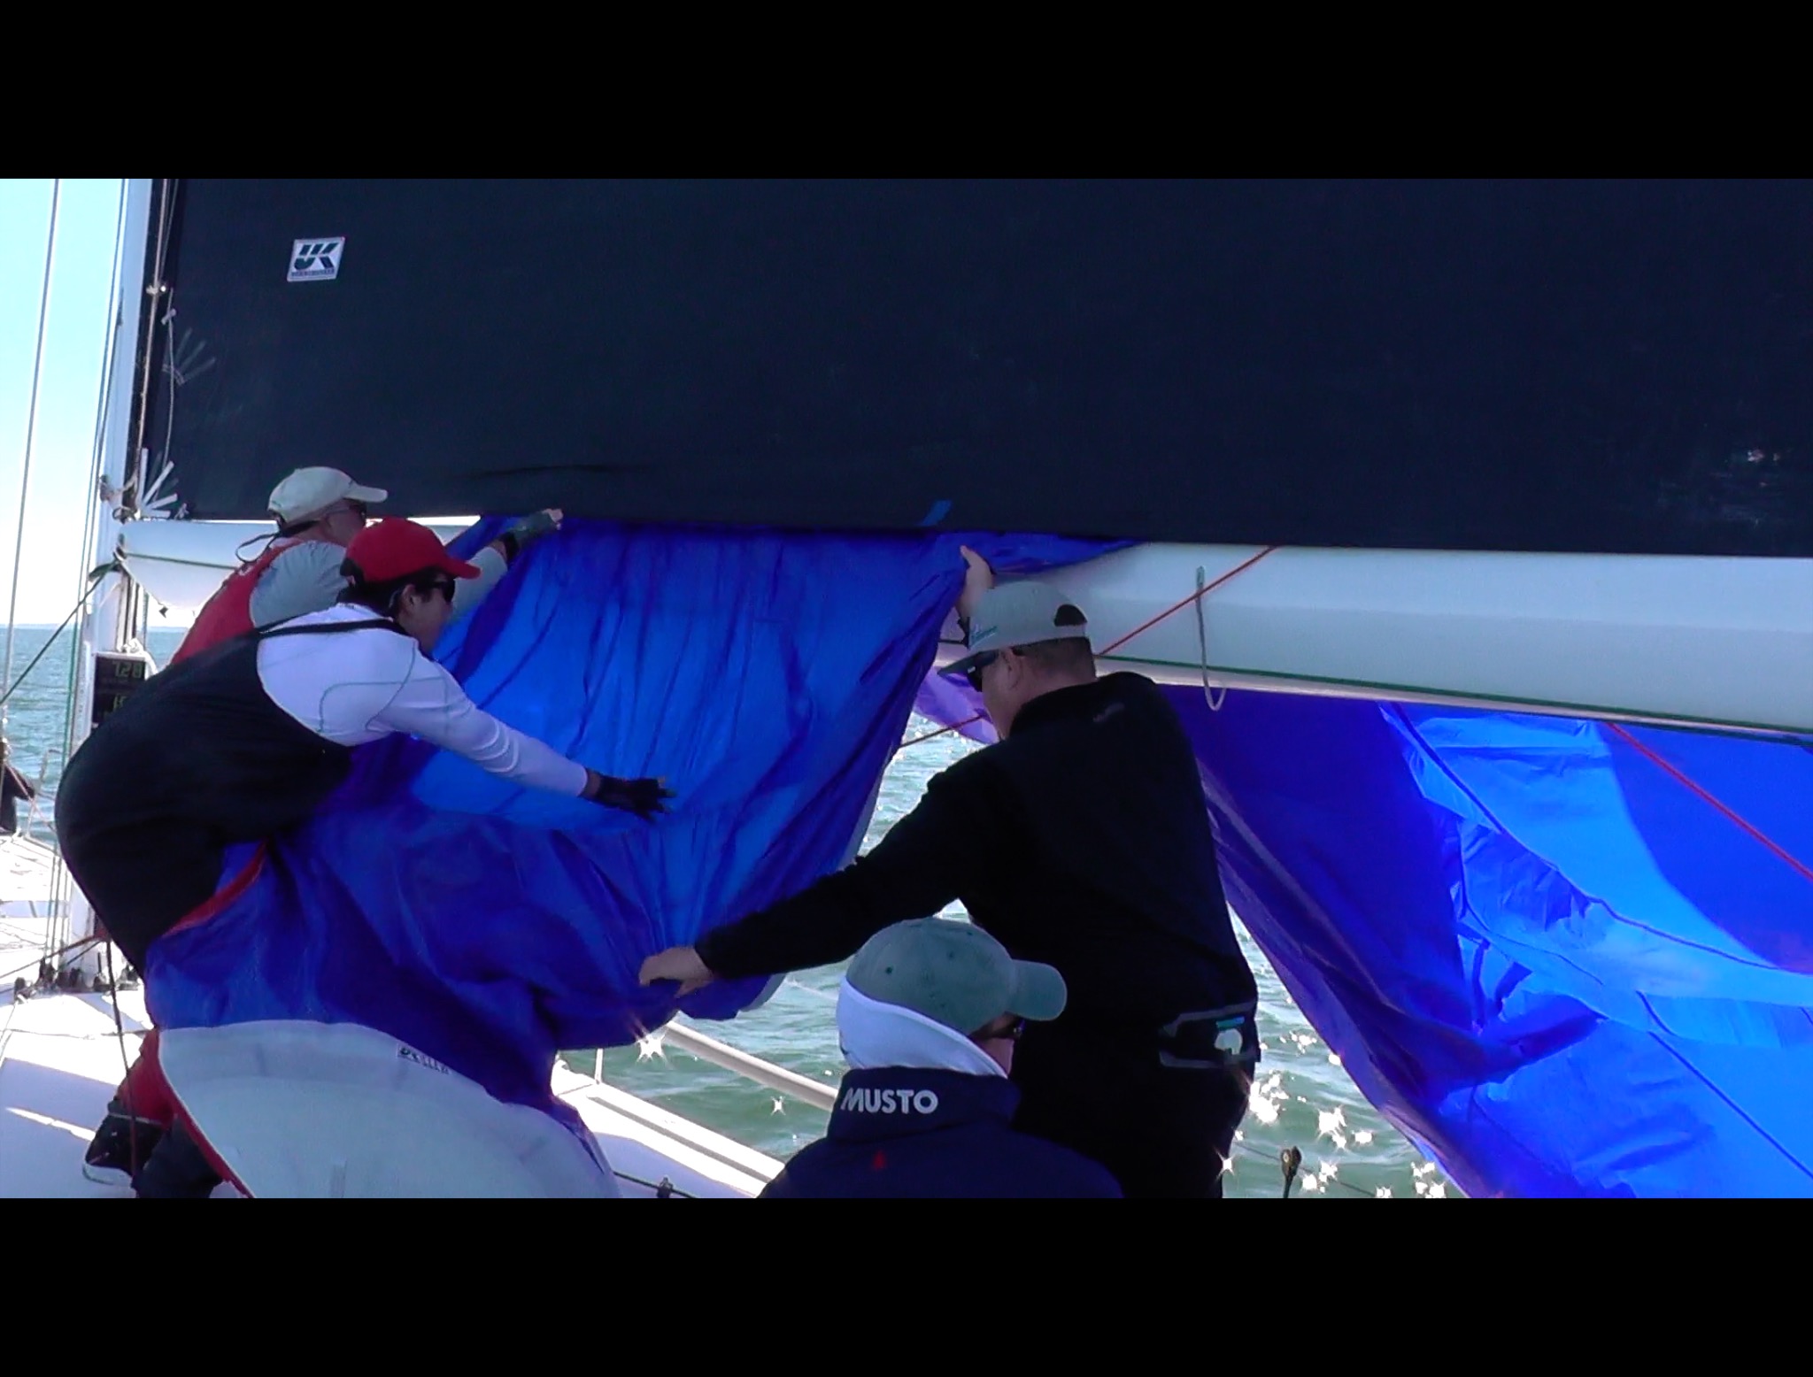
{"label": "grey-green baseball cap on the person in the MUSTO jacket", "polygon": [[845,978],[879,1004],[897,1004],[968,1036],[1004,1013],[1046,1022],[1068,991],[1055,968],[1013,960],[968,922],[910,919],[883,928],[850,960]]}

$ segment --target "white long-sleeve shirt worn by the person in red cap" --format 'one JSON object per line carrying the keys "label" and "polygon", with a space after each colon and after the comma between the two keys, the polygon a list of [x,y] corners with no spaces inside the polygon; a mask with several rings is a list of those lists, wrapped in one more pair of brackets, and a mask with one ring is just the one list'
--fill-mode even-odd
{"label": "white long-sleeve shirt worn by the person in red cap", "polygon": [[[286,625],[373,616],[368,607],[341,603]],[[575,797],[586,790],[584,765],[482,712],[451,674],[395,631],[270,638],[257,647],[257,678],[272,703],[343,746],[408,732],[528,788]]]}

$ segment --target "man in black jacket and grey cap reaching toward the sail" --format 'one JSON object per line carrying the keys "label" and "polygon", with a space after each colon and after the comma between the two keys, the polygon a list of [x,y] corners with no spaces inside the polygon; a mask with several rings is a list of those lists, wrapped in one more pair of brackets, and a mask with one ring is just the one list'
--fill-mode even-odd
{"label": "man in black jacket and grey cap reaching toward the sail", "polygon": [[1104,1163],[1128,1198],[1218,1198],[1258,1031],[1182,723],[1149,679],[1095,678],[1082,612],[1048,585],[979,591],[968,643],[957,669],[1001,741],[868,855],[649,957],[642,982],[827,966],[957,899],[1070,987],[1015,1053],[1013,1125]]}

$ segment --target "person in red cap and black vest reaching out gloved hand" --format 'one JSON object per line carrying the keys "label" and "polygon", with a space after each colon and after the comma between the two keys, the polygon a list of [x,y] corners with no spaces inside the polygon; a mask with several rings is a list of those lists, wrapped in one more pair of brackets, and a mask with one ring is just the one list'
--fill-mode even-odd
{"label": "person in red cap and black vest reaching out gloved hand", "polygon": [[[63,861],[147,984],[152,942],[214,899],[227,848],[303,823],[346,777],[352,750],[392,732],[642,819],[673,797],[658,779],[602,775],[506,727],[428,658],[455,587],[480,571],[426,525],[368,525],[344,573],[334,607],[154,674],[69,761],[56,799]],[[150,1127],[136,1125],[140,1147]],[[140,1196],[205,1196],[219,1183],[181,1116],[132,1158]]]}

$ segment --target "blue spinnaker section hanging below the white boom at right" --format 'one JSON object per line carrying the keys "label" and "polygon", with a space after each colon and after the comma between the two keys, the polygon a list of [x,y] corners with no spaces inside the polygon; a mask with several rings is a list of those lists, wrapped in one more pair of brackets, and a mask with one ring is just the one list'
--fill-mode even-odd
{"label": "blue spinnaker section hanging below the white boom at right", "polygon": [[1813,1194],[1813,743],[1166,694],[1229,904],[1461,1190]]}

